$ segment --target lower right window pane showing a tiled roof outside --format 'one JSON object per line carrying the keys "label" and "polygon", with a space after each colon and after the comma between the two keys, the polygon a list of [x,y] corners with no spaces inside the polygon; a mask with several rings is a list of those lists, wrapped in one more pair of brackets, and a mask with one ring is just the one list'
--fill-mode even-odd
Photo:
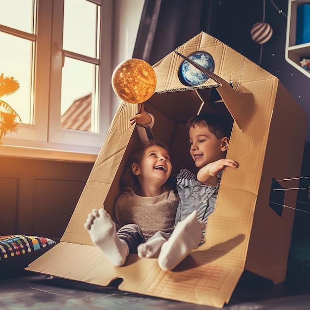
{"label": "lower right window pane showing a tiled roof outside", "polygon": [[96,65],[65,57],[61,78],[61,127],[98,132]]}

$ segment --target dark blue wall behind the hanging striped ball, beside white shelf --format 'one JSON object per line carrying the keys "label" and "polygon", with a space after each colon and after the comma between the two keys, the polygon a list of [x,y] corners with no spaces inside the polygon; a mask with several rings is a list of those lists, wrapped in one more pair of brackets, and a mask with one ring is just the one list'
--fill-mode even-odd
{"label": "dark blue wall behind the hanging striped ball, beside white shelf", "polygon": [[[209,34],[259,64],[279,78],[300,106],[310,115],[310,78],[285,60],[287,17],[279,14],[273,3],[287,15],[288,0],[218,0],[214,1]],[[271,25],[273,35],[261,46],[250,35],[252,26],[264,21]],[[261,61],[260,61],[261,60]],[[310,141],[308,125],[307,141]]]}

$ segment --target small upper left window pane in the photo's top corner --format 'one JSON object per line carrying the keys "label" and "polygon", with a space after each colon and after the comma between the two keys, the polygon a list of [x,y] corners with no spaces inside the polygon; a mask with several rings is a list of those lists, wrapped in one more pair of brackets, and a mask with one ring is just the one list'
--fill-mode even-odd
{"label": "small upper left window pane in the photo's top corner", "polygon": [[0,0],[0,24],[33,33],[34,0]]}

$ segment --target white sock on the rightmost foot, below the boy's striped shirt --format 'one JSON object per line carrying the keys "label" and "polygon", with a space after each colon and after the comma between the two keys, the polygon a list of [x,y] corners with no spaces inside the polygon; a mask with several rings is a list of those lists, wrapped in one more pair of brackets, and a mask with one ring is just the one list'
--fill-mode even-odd
{"label": "white sock on the rightmost foot, below the boy's striped shirt", "polygon": [[171,270],[186,258],[198,247],[205,228],[205,222],[197,220],[196,210],[185,220],[179,222],[169,240],[161,246],[158,257],[160,268],[165,271]]}

